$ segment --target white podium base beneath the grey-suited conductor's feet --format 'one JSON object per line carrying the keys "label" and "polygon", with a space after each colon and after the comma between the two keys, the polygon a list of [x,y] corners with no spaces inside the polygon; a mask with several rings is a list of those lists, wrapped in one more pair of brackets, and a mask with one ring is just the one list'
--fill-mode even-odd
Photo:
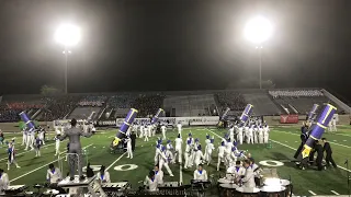
{"label": "white podium base beneath the grey-suited conductor's feet", "polygon": [[76,175],[73,181],[70,181],[69,176],[58,183],[59,187],[68,188],[69,195],[77,194],[90,194],[92,197],[106,197],[105,193],[101,188],[101,184],[93,177],[79,181],[79,176]]}

